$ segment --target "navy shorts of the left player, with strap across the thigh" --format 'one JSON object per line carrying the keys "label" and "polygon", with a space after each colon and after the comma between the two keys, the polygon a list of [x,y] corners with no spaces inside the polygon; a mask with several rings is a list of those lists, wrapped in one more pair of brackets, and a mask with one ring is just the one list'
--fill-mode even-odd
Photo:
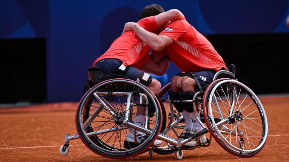
{"label": "navy shorts of the left player, with strap across the thigh", "polygon": [[[99,67],[104,74],[117,74],[115,72],[122,63],[123,63],[122,61],[116,58],[105,58],[96,62],[94,66]],[[140,82],[140,80],[144,76],[144,72],[141,70],[138,70],[135,67],[130,66],[125,76],[128,77],[129,79]],[[151,81],[152,81],[152,77],[148,79],[145,85],[147,86],[151,84]]]}

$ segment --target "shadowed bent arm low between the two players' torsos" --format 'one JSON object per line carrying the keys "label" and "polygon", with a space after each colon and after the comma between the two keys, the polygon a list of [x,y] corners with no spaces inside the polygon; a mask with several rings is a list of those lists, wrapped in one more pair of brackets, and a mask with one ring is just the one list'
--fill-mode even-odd
{"label": "shadowed bent arm low between the two players' torsos", "polygon": [[168,58],[163,58],[157,63],[154,61],[148,61],[140,67],[140,70],[161,76],[165,74],[166,70],[168,70],[169,62]]}

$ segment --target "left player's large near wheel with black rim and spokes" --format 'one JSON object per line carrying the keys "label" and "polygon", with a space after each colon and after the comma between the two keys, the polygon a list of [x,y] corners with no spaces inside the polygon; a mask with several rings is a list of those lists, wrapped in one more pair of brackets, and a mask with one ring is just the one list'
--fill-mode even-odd
{"label": "left player's large near wheel with black rim and spokes", "polygon": [[[144,85],[110,79],[83,96],[76,112],[76,128],[85,146],[96,154],[123,159],[153,145],[161,129],[161,114],[157,98]],[[139,115],[144,120],[135,120]]]}

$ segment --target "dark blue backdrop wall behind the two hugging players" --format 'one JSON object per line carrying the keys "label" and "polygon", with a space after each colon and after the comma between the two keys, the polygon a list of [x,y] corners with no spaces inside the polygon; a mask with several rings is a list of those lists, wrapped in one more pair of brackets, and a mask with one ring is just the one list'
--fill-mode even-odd
{"label": "dark blue backdrop wall behind the two hugging players", "polygon": [[[79,101],[86,68],[121,35],[125,22],[137,21],[153,3],[179,9],[202,34],[289,32],[288,0],[4,0],[0,38],[45,38],[47,101]],[[168,78],[178,72],[172,64]]]}

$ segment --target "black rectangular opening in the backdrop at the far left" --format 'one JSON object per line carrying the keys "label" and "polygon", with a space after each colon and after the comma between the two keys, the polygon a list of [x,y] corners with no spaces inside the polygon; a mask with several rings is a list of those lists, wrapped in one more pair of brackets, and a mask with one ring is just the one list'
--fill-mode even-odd
{"label": "black rectangular opening in the backdrop at the far left", "polygon": [[0,40],[0,53],[0,103],[45,102],[45,39]]}

